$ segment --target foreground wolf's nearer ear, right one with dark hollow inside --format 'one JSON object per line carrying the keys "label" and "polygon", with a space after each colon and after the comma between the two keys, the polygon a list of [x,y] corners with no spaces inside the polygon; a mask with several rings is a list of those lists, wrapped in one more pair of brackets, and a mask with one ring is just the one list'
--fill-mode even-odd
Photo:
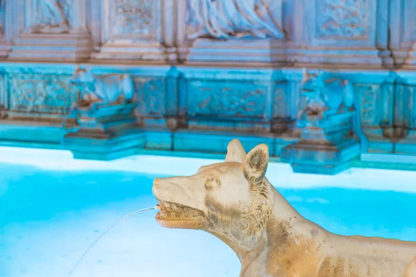
{"label": "foreground wolf's nearer ear, right one with dark hollow inside", "polygon": [[245,156],[243,161],[243,172],[245,179],[250,184],[257,184],[263,180],[268,166],[268,146],[266,144],[257,145]]}

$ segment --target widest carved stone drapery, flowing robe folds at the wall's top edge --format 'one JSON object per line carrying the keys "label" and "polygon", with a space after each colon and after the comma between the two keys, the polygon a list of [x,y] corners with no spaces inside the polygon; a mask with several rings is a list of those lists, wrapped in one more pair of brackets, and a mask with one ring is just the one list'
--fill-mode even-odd
{"label": "widest carved stone drapery, flowing robe folds at the wall's top edge", "polygon": [[279,4],[280,1],[275,0],[188,0],[188,39],[281,39],[285,34],[276,22]]}

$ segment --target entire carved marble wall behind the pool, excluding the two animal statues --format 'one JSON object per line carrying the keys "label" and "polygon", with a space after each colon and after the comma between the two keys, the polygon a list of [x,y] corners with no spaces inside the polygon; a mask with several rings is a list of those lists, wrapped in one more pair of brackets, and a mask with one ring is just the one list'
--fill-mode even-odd
{"label": "entire carved marble wall behind the pool, excluding the two animal statues", "polygon": [[[310,128],[301,111],[333,110],[308,104],[306,68],[321,70],[323,98],[337,90],[329,83],[347,84],[354,103],[345,123],[354,128],[324,135],[360,143],[360,152],[416,154],[413,0],[3,0],[0,8],[4,144],[65,148],[67,132],[80,128],[70,108],[85,91],[70,80],[81,66],[95,80],[131,78],[135,101],[87,120],[134,110],[141,142],[121,139],[121,149],[224,153],[239,137],[280,157]],[[359,159],[353,152],[341,160]]]}

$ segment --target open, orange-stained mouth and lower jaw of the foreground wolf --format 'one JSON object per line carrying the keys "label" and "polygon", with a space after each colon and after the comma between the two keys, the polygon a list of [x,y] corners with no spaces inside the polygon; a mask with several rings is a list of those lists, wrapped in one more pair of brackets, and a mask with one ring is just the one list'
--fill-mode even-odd
{"label": "open, orange-stained mouth and lower jaw of the foreground wolf", "polygon": [[[158,199],[159,200],[159,199]],[[199,229],[205,220],[201,211],[188,206],[159,200],[157,222],[166,228]]]}

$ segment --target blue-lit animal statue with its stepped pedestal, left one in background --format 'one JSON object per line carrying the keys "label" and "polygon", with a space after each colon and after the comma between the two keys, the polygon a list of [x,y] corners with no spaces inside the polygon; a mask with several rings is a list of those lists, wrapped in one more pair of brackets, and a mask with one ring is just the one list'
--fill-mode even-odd
{"label": "blue-lit animal statue with its stepped pedestal, left one in background", "polygon": [[135,84],[130,75],[95,75],[78,68],[70,82],[81,93],[71,107],[79,129],[64,136],[73,157],[112,160],[137,152],[143,133],[137,123]]}

